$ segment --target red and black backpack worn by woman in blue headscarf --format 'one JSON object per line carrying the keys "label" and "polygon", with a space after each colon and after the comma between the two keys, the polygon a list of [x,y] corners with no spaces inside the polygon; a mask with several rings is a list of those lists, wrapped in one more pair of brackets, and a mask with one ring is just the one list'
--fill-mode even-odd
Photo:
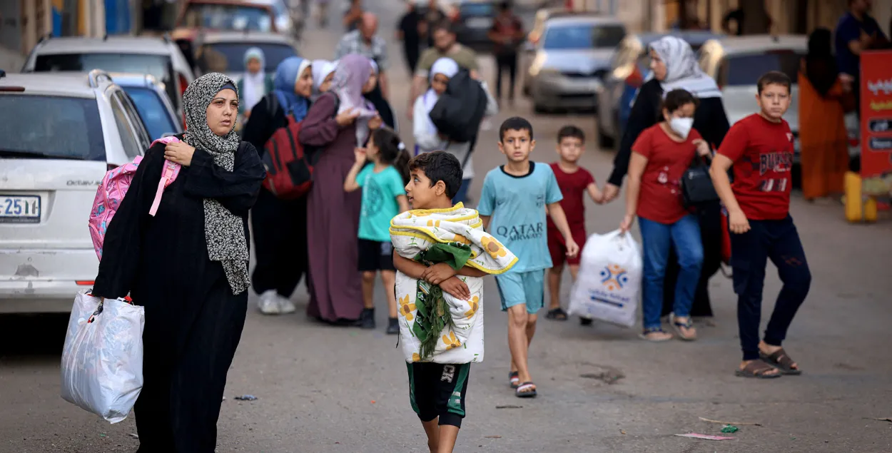
{"label": "red and black backpack worn by woman in blue headscarf", "polygon": [[[279,109],[275,93],[268,95],[269,111]],[[337,96],[335,96],[337,99]],[[335,114],[338,103],[335,102]],[[263,187],[283,200],[301,198],[310,192],[313,185],[313,165],[319,158],[321,149],[304,147],[298,138],[301,134],[302,121],[293,115],[285,115],[288,125],[278,128],[263,146],[263,166],[267,169],[267,177]]]}

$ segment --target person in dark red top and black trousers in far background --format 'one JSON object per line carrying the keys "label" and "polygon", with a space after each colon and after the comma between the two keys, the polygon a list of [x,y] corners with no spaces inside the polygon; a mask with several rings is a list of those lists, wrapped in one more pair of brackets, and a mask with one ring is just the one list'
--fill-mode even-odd
{"label": "person in dark red top and black trousers in far background", "polygon": [[496,99],[501,101],[503,70],[508,70],[508,100],[514,102],[517,79],[517,46],[524,41],[524,23],[511,11],[510,2],[499,5],[499,15],[492,22],[489,37],[496,55]]}

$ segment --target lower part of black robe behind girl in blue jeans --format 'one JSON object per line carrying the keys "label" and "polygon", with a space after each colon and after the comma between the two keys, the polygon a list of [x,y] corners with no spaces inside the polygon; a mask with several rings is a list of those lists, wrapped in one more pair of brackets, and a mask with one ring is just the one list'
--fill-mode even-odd
{"label": "lower part of black robe behind girl in blue jeans", "polygon": [[[703,268],[694,294],[694,304],[690,307],[692,317],[712,317],[713,308],[709,301],[709,279],[722,267],[722,207],[718,202],[701,206],[697,212],[700,223],[700,240],[703,243]],[[663,316],[673,310],[675,302],[675,281],[679,272],[678,254],[675,249],[669,253],[663,284]]]}

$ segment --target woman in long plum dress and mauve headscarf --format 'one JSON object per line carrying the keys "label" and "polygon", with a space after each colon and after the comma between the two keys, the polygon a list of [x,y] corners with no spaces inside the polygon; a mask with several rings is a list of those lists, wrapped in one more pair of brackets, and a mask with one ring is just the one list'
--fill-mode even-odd
{"label": "woman in long plum dress and mauve headscarf", "polygon": [[362,97],[370,79],[368,58],[344,56],[332,89],[313,103],[299,136],[304,146],[321,149],[307,202],[312,276],[307,315],[335,325],[356,325],[364,316],[356,240],[361,194],[345,193],[343,181],[369,128],[382,124]]}

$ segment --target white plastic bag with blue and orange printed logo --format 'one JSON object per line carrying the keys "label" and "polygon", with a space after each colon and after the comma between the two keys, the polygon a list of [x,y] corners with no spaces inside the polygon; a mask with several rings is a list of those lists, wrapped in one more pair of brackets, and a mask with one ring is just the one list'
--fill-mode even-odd
{"label": "white plastic bag with blue and orange printed logo", "polygon": [[570,314],[617,325],[635,325],[641,287],[641,254],[629,233],[591,235],[582,249]]}

